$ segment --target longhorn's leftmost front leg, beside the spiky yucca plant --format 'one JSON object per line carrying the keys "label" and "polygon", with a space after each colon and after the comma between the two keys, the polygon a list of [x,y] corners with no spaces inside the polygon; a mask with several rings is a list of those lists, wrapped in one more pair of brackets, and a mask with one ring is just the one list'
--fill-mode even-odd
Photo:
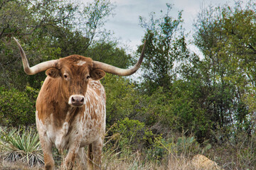
{"label": "longhorn's leftmost front leg, beside the spiky yucca plant", "polygon": [[41,135],[39,135],[39,137],[40,137],[41,147],[43,149],[43,159],[45,162],[45,169],[53,170],[54,169],[54,160],[53,160],[53,153],[52,153],[53,145],[45,137],[42,137]]}

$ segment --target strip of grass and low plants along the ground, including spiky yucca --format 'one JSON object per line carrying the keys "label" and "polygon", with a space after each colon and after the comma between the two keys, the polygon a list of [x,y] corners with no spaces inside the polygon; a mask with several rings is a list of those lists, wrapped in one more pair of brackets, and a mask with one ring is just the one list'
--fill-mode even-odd
{"label": "strip of grass and low plants along the ground, including spiky yucca", "polygon": [[[131,140],[122,134],[106,137],[103,148],[103,170],[193,170],[191,159],[196,154],[204,154],[217,162],[223,169],[256,169],[255,139],[241,134],[237,144],[199,144],[191,136],[180,134],[166,138],[156,137],[150,147],[134,149]],[[125,142],[123,142],[125,141]],[[127,142],[128,141],[128,142]],[[124,145],[125,144],[125,145]],[[53,150],[56,168],[60,168],[63,155]],[[11,162],[11,163],[9,163]],[[0,169],[43,169],[43,154],[39,137],[33,128],[0,127]],[[75,170],[78,167],[75,167]]]}

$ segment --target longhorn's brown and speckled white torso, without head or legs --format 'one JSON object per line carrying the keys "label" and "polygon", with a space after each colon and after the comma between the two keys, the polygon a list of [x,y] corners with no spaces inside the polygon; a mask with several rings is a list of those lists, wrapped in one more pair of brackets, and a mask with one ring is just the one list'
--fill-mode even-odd
{"label": "longhorn's brown and speckled white torso, without head or legs", "polygon": [[[105,135],[106,100],[100,81],[89,82],[86,103],[81,108],[61,108],[62,104],[50,101],[46,96],[50,89],[45,89],[45,84],[50,84],[48,81],[53,80],[46,79],[36,102],[36,124],[42,137],[48,138],[58,150],[63,150],[72,145],[68,144],[70,137],[80,137],[80,147],[85,147]],[[97,89],[98,93],[95,92],[96,88],[100,88]],[[52,95],[58,96],[60,93],[55,91]]]}

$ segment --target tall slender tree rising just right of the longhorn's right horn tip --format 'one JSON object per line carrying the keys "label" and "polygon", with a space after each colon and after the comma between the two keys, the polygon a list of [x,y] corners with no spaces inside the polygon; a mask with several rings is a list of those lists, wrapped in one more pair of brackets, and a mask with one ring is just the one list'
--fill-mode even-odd
{"label": "tall slender tree rising just right of the longhorn's right horn tip", "polygon": [[[170,89],[176,79],[175,64],[187,57],[185,35],[181,23],[181,11],[175,19],[170,16],[171,4],[166,4],[167,11],[161,11],[161,17],[151,13],[149,20],[140,16],[140,24],[146,30],[146,52],[143,62],[144,88],[151,94],[158,86]],[[140,51],[139,48],[138,51]]]}

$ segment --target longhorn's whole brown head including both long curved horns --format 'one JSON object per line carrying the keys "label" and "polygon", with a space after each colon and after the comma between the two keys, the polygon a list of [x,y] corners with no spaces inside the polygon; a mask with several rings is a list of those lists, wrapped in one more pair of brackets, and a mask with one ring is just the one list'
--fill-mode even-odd
{"label": "longhorn's whole brown head including both long curved horns", "polygon": [[66,98],[68,104],[73,107],[80,107],[85,104],[85,93],[89,79],[102,79],[105,76],[105,72],[119,76],[134,74],[142,64],[146,44],[146,42],[144,42],[142,55],[139,57],[137,64],[135,64],[131,69],[120,69],[110,64],[96,62],[88,57],[82,57],[80,55],[71,55],[59,60],[50,60],[48,62],[37,64],[33,67],[29,67],[25,52],[18,41],[15,38],[14,40],[18,44],[18,48],[21,52],[23,69],[26,74],[31,75],[47,70],[46,74],[48,77],[60,79],[62,95]]}

